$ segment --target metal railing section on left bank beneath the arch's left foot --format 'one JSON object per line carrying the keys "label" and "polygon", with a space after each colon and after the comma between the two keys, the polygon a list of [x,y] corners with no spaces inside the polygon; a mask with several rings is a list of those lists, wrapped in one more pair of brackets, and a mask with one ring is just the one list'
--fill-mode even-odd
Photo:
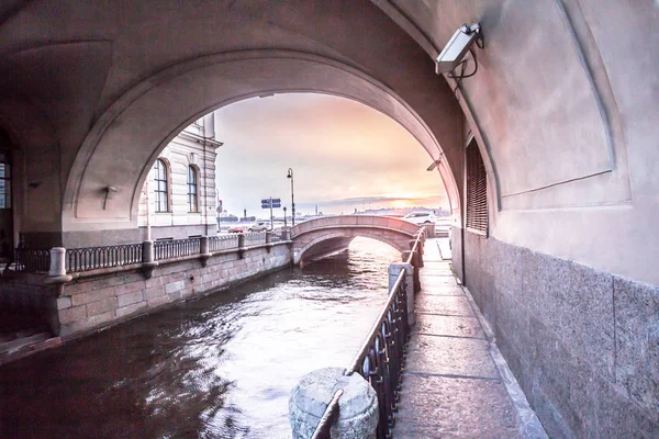
{"label": "metal railing section on left bank beneath the arch's left foot", "polygon": [[116,246],[68,248],[66,250],[66,272],[98,270],[130,266],[142,262],[143,244],[123,244]]}

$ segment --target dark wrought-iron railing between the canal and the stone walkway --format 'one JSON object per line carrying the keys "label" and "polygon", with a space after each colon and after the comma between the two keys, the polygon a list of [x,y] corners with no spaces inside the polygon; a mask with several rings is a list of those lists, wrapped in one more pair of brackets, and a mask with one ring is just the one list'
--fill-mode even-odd
{"label": "dark wrought-iron railing between the canal and the stone walkway", "polygon": [[[424,232],[421,230],[405,263],[412,264],[416,258],[415,255],[422,251],[423,239]],[[401,270],[389,291],[389,299],[380,311],[361,349],[345,371],[345,375],[360,374],[376,391],[378,396],[378,427],[376,431],[378,439],[391,438],[395,424],[394,414],[398,410],[396,405],[409,338],[405,277],[406,271]],[[330,430],[338,418],[338,402],[342,394],[342,390],[334,394],[312,436],[313,439],[330,439]]]}

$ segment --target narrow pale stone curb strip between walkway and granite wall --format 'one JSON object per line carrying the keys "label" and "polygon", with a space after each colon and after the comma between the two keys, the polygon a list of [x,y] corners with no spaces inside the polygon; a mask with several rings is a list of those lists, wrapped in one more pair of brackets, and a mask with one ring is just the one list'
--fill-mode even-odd
{"label": "narrow pale stone curb strip between walkway and granite wall", "polygon": [[481,327],[483,328],[483,331],[485,333],[485,337],[490,346],[490,356],[492,357],[496,370],[501,375],[501,380],[505,385],[505,390],[507,391],[513,408],[515,409],[517,421],[520,423],[520,437],[548,439],[547,432],[545,431],[543,424],[540,424],[540,420],[538,419],[537,415],[528,404],[526,395],[522,391],[522,387],[515,379],[515,375],[513,375],[513,371],[511,371],[511,368],[509,368],[505,358],[503,358],[503,354],[499,350],[499,347],[496,346],[496,336],[490,327],[489,322],[485,319],[480,308],[473,301],[473,297],[471,296],[471,293],[469,292],[467,286],[461,285],[460,288],[465,292],[465,295],[467,296],[467,301],[469,302],[473,314],[478,318],[478,322],[480,323]]}

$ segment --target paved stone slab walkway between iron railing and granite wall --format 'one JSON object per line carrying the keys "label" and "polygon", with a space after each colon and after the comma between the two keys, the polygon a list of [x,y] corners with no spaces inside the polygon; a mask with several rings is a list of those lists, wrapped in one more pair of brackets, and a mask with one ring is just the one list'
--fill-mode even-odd
{"label": "paved stone slab walkway between iron railing and granite wall", "polygon": [[543,437],[541,428],[537,435],[521,428],[524,416],[513,404],[518,395],[509,396],[483,327],[438,244],[426,241],[393,437]]}

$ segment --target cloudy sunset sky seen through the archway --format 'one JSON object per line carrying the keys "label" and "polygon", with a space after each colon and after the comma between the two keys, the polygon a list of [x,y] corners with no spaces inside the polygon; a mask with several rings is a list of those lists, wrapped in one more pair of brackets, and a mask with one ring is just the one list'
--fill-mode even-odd
{"label": "cloudy sunset sky seen through the archway", "polygon": [[[281,199],[290,215],[355,209],[447,207],[444,184],[425,169],[432,158],[389,116],[326,94],[254,98],[215,113],[216,188],[225,211],[267,217],[260,200]],[[276,212],[281,216],[282,211]]]}

